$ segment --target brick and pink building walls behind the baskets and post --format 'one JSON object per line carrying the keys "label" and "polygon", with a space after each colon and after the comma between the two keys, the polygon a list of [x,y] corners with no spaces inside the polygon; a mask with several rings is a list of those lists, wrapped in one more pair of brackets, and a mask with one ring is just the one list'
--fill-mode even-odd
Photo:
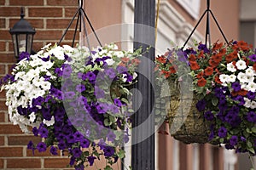
{"label": "brick and pink building walls behind the baskets and post", "polygon": [[[255,37],[250,36],[247,31],[247,29],[252,30],[254,35],[255,17],[251,18],[253,15],[251,13],[241,12],[247,11],[246,2],[247,0],[215,0],[211,1],[210,8],[229,41],[242,38],[255,44]],[[158,3],[157,0],[156,3]],[[195,24],[201,18],[201,14],[206,10],[207,1],[160,0],[159,3],[155,49],[156,54],[163,54],[171,45],[183,45]],[[253,0],[251,3],[253,3]],[[16,62],[9,28],[20,19],[21,6],[25,7],[25,19],[36,28],[37,33],[34,37],[33,49],[38,51],[49,42],[59,42],[78,8],[78,3],[77,1],[67,0],[0,0],[0,77],[9,73],[12,65]],[[117,42],[120,48],[132,49],[134,0],[84,0],[84,10],[88,14],[102,44]],[[210,25],[211,41],[224,42],[224,38],[212,18]],[[86,26],[90,45],[98,45],[88,23]],[[62,41],[63,44],[72,42],[73,30],[74,25],[67,31],[67,35]],[[202,20],[191,40],[205,42],[205,32],[206,20]],[[86,45],[84,35],[84,31],[78,33],[76,42]],[[192,41],[189,41],[188,45],[191,44]],[[164,123],[155,133],[155,143],[158,145],[156,147],[155,169],[240,170],[247,164],[247,161],[239,161],[240,157],[236,156],[234,152],[224,150],[218,146],[178,142],[172,138],[168,129],[168,125]],[[68,158],[62,156],[61,153],[59,156],[50,156],[49,152],[36,152],[32,156],[32,151],[26,150],[26,144],[31,139],[40,140],[32,135],[21,133],[19,127],[9,122],[4,92],[1,92],[0,169],[73,169],[67,167]],[[129,148],[126,151],[128,154],[125,163],[129,164],[131,162],[131,151]],[[116,167],[116,169],[118,168]]]}

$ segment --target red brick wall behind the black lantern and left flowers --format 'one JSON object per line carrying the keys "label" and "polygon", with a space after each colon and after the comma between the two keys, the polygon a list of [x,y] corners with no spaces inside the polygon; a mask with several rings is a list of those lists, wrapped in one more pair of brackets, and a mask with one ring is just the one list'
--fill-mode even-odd
{"label": "red brick wall behind the black lantern and left flowers", "polygon": [[[75,14],[76,0],[0,0],[0,77],[9,73],[15,64],[9,28],[20,20],[20,7],[25,7],[25,19],[36,28],[33,50],[38,51],[49,42],[58,42],[69,21]],[[74,28],[74,24],[71,28]],[[67,31],[63,43],[71,43],[73,30]],[[78,38],[77,38],[78,39]],[[20,127],[9,122],[5,93],[0,93],[0,169],[68,169],[67,156],[50,156],[49,152],[32,156],[26,150],[29,140],[39,138],[25,135]]]}

